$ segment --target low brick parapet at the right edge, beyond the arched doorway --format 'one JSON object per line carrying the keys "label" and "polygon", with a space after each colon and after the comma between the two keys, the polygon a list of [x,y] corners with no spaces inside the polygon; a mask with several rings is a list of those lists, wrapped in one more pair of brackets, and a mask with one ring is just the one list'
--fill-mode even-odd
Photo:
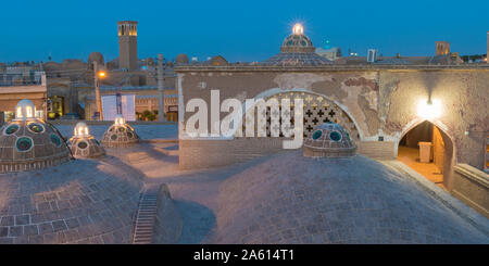
{"label": "low brick parapet at the right edge, beyond the arched doorway", "polygon": [[489,218],[489,175],[467,164],[453,167],[453,195]]}

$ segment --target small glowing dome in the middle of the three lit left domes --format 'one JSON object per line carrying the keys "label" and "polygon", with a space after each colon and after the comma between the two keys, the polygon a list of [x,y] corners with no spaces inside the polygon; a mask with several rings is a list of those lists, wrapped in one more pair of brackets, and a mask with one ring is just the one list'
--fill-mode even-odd
{"label": "small glowing dome in the middle of the three lit left domes", "polygon": [[70,139],[70,149],[75,157],[98,157],[105,154],[105,150],[100,142],[95,139],[87,124],[80,122],[76,124],[74,136]]}

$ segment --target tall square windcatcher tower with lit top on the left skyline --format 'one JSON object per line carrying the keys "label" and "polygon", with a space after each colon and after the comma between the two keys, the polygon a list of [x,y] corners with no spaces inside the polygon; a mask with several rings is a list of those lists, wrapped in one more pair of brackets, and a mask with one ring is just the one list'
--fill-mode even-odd
{"label": "tall square windcatcher tower with lit top on the left skyline", "polygon": [[117,22],[118,67],[135,71],[138,67],[138,22]]}

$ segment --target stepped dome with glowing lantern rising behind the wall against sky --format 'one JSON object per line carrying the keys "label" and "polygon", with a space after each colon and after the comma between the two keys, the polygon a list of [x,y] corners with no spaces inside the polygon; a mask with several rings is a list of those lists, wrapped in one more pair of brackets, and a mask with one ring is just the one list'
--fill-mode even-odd
{"label": "stepped dome with glowing lantern rising behind the wall against sky", "polygon": [[280,53],[264,61],[265,65],[325,65],[331,61],[315,53],[311,39],[304,35],[302,25],[296,24],[292,34],[285,38]]}

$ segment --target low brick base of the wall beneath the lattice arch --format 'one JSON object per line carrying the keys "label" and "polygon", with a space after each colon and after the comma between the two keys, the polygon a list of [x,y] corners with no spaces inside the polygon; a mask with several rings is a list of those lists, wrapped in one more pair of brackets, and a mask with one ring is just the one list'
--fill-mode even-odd
{"label": "low brick base of the wall beneath the lattice arch", "polygon": [[[181,169],[226,166],[259,156],[287,151],[284,138],[236,138],[233,140],[179,140]],[[394,142],[361,141],[358,153],[375,159],[394,157]]]}

